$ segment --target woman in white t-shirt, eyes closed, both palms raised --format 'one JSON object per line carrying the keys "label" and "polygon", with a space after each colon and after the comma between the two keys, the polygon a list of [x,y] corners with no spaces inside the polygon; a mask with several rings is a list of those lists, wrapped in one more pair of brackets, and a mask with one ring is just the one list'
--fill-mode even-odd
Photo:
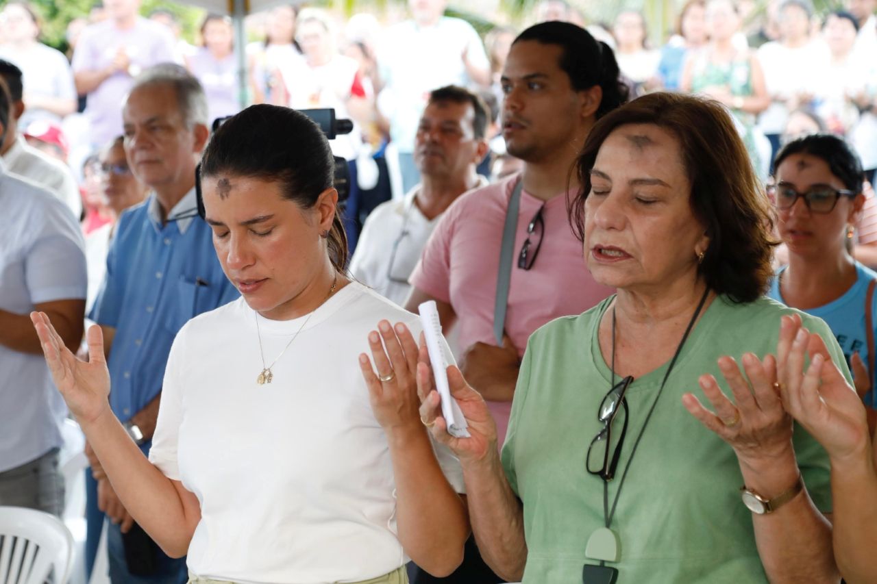
{"label": "woman in white t-shirt, eyes closed, both palms raised", "polygon": [[84,363],[33,316],[113,488],[188,553],[191,581],[401,584],[409,558],[436,575],[462,558],[460,466],[417,412],[417,317],[346,277],[332,169],[288,108],[254,105],[210,139],[200,207],[242,297],[175,338],[149,460],[107,406],[100,330]]}

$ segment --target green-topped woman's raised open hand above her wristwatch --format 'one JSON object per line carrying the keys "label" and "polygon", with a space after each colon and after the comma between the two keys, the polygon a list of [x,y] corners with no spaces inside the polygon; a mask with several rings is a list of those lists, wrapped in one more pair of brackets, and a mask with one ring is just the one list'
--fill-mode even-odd
{"label": "green-topped woman's raised open hand above her wristwatch", "polygon": [[690,393],[682,395],[686,410],[731,445],[741,463],[788,454],[792,450],[792,418],[783,409],[775,389],[774,357],[767,355],[761,361],[745,353],[745,377],[731,357],[720,358],[718,366],[734,402],[724,395],[715,377],[702,375],[698,381],[716,413],[704,408]]}

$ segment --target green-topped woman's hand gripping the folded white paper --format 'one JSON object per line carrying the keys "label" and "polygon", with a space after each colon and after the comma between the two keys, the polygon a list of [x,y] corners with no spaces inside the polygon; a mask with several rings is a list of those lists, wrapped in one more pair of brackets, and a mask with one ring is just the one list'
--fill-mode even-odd
{"label": "green-topped woman's hand gripping the folded white paper", "polygon": [[466,380],[460,369],[447,368],[447,383],[451,395],[460,405],[466,418],[468,438],[454,438],[447,431],[447,423],[441,413],[441,398],[435,388],[430,365],[430,355],[423,336],[417,358],[417,396],[420,398],[420,421],[429,428],[433,438],[450,448],[460,464],[478,463],[496,453],[496,422],[490,416],[488,405]]}

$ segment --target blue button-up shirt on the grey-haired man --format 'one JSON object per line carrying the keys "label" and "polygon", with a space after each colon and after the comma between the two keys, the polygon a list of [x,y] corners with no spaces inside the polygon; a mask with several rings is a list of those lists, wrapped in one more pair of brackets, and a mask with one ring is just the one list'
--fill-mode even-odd
{"label": "blue button-up shirt on the grey-haired man", "polygon": [[195,189],[168,213],[167,224],[154,194],[119,217],[89,318],[116,329],[108,366],[110,405],[120,420],[159,394],[182,325],[238,297],[219,265],[210,227],[196,215]]}

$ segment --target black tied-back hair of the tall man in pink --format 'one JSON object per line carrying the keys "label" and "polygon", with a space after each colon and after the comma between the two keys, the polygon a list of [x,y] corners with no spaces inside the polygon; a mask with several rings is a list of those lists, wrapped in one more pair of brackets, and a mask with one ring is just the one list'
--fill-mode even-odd
{"label": "black tied-back hair of the tall man in pink", "polygon": [[569,75],[570,85],[575,91],[600,86],[602,100],[595,118],[599,119],[627,103],[630,89],[620,79],[615,53],[609,45],[596,40],[581,26],[557,20],[542,22],[517,35],[515,43],[521,40],[560,46],[563,49],[560,68]]}

